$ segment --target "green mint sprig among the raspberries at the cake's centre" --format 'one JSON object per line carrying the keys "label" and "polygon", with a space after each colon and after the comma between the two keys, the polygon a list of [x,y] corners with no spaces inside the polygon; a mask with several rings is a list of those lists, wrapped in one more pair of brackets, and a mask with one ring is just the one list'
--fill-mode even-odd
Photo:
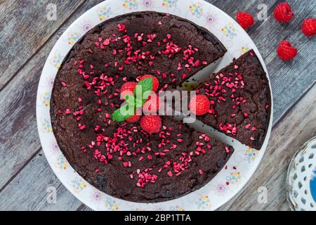
{"label": "green mint sprig among the raspberries at the cake's centre", "polygon": [[148,77],[141,80],[133,91],[133,96],[126,96],[126,101],[114,111],[112,114],[113,120],[123,122],[135,115],[136,109],[142,107],[152,91],[152,78]]}

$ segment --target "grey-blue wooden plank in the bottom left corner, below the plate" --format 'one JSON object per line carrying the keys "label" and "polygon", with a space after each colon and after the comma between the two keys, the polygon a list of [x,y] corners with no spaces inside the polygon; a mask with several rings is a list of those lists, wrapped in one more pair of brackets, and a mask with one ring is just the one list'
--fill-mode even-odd
{"label": "grey-blue wooden plank in the bottom left corner, below the plate", "polygon": [[[58,178],[43,155],[37,153],[0,193],[0,210],[74,210],[81,202],[60,184]],[[56,203],[47,201],[50,191],[47,188],[56,188]]]}

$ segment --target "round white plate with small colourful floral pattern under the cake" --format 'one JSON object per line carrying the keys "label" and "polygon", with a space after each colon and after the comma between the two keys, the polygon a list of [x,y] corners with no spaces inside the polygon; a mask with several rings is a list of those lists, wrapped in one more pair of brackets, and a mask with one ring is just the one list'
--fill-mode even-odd
{"label": "round white plate with small colourful floral pattern under the cake", "polygon": [[[272,113],[268,134],[265,137],[260,151],[242,146],[236,141],[232,144],[235,153],[218,175],[198,191],[170,200],[164,203],[131,203],[125,200],[113,198],[94,188],[72,169],[64,155],[58,148],[51,127],[49,114],[49,102],[53,81],[58,72],[58,66],[70,51],[74,43],[92,27],[124,13],[134,11],[159,11],[171,13],[187,18],[198,25],[205,27],[223,42],[228,49],[218,68],[223,68],[248,49],[254,49],[261,60],[265,72],[265,64],[254,45],[254,42],[246,34],[235,20],[229,15],[207,3],[206,1],[178,1],[178,0],[107,0],[81,15],[64,34],[58,39],[49,54],[37,91],[37,126],[39,138],[49,165],[62,184],[82,203],[93,210],[216,210],[230,200],[251,178],[252,174],[263,158],[268,144],[272,127]],[[268,75],[268,72],[267,72]],[[272,96],[271,96],[272,99]],[[273,111],[273,105],[271,105]],[[220,139],[223,135],[216,134]],[[225,137],[224,141],[227,142]],[[231,143],[230,143],[231,144]]]}

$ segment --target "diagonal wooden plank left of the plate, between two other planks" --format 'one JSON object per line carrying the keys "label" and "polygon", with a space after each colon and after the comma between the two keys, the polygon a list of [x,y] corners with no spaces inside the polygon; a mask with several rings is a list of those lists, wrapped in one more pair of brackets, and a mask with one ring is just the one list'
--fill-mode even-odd
{"label": "diagonal wooden plank left of the plate, between two other planks", "polygon": [[[63,32],[98,1],[88,1],[58,32]],[[35,115],[36,95],[41,69],[58,34],[18,72],[0,91],[0,190],[40,148]]]}

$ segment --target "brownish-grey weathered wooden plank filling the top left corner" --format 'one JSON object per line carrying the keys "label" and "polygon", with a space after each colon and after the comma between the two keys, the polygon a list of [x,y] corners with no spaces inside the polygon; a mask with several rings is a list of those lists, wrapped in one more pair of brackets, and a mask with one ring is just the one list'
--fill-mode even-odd
{"label": "brownish-grey weathered wooden plank filling the top left corner", "polygon": [[[27,0],[0,4],[0,90],[83,2]],[[51,3],[57,6],[56,21],[47,19],[46,7]]]}

